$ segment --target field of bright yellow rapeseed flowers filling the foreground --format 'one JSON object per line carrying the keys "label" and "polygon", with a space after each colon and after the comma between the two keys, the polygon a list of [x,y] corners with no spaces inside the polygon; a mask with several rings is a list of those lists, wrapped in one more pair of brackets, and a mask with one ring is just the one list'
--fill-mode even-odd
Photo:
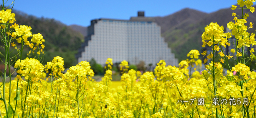
{"label": "field of bright yellow rapeseed flowers filling the foreground", "polygon": [[[249,9],[254,12],[255,0],[238,0],[232,10]],[[4,2],[3,2],[4,3]],[[224,33],[223,26],[210,23],[202,34],[204,62],[198,50],[191,50],[179,67],[160,60],[153,72],[141,74],[128,70],[128,62],[120,64],[122,86],[111,87],[112,59],[106,61],[102,81],[92,79],[94,72],[87,61],[64,71],[62,57],[55,57],[42,65],[45,45],[43,36],[31,33],[31,27],[15,23],[15,14],[4,8],[0,11],[1,52],[5,65],[0,83],[0,118],[256,118],[256,72],[246,64],[256,60],[255,34],[246,26],[248,13],[234,16]],[[235,37],[235,42],[228,39]],[[236,57],[225,55],[226,45],[234,44]],[[17,50],[14,57],[10,57]],[[29,48],[29,53],[23,53]],[[249,48],[249,50],[247,50]],[[246,53],[250,53],[246,57]],[[29,55],[35,58],[29,58]],[[21,58],[21,55],[27,55]],[[17,59],[18,58],[18,59]],[[217,58],[221,58],[218,59]],[[235,60],[231,67],[228,60]],[[210,62],[210,63],[208,63]],[[206,70],[190,73],[192,66],[205,64]],[[223,75],[223,66],[228,66]],[[12,80],[10,66],[17,70]],[[236,72],[237,75],[234,75]],[[48,76],[49,75],[49,76]],[[10,78],[10,82],[6,79]]]}

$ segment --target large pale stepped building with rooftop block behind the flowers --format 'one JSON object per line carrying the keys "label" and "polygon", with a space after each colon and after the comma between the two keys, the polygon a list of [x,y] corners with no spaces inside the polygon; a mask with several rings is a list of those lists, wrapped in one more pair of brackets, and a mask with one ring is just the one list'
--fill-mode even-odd
{"label": "large pale stepped building with rooftop block behind the flowers", "polygon": [[165,60],[167,65],[178,65],[178,60],[161,37],[160,26],[153,18],[144,17],[143,11],[130,20],[92,20],[76,58],[78,62],[94,58],[101,65],[105,65],[107,58],[112,58],[113,63],[126,60],[134,65],[140,61],[156,65]]}

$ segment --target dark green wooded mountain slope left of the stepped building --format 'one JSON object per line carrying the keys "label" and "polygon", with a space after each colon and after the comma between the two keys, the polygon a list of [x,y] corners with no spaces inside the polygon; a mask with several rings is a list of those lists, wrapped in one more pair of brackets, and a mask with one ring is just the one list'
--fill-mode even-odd
{"label": "dark green wooded mountain slope left of the stepped building", "polygon": [[65,68],[77,63],[74,55],[84,39],[80,32],[74,31],[71,27],[55,19],[37,18],[17,10],[12,11],[16,14],[15,18],[18,25],[31,26],[32,34],[39,32],[44,37],[44,63],[53,60],[53,57],[56,56],[64,58]]}

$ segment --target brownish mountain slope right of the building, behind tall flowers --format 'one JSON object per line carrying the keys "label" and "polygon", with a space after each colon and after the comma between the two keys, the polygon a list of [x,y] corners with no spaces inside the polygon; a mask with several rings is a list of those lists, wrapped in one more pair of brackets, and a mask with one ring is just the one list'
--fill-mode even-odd
{"label": "brownish mountain slope right of the building, behind tall flowers", "polygon": [[[162,36],[168,43],[168,47],[172,48],[172,52],[175,53],[175,57],[181,61],[187,58],[187,53],[192,49],[197,49],[201,52],[203,48],[201,47],[201,35],[203,34],[203,31],[205,31],[204,27],[206,25],[211,22],[217,22],[225,29],[227,27],[227,23],[230,21],[234,22],[234,17],[232,16],[233,12],[236,12],[237,15],[241,15],[241,10],[236,9],[233,11],[231,8],[218,10],[209,14],[200,13],[200,11],[187,8],[172,15],[162,17],[162,22],[157,20],[160,19],[159,17],[155,17],[155,19],[160,26],[165,27],[162,29]],[[245,10],[244,13],[248,12],[249,11]],[[180,17],[184,19],[181,19]],[[256,15],[249,13],[247,21],[256,23]],[[169,22],[169,24],[166,22]],[[173,25],[170,25],[171,23]],[[249,23],[246,25],[249,25]],[[255,27],[248,30],[248,32],[253,31],[255,31]]]}

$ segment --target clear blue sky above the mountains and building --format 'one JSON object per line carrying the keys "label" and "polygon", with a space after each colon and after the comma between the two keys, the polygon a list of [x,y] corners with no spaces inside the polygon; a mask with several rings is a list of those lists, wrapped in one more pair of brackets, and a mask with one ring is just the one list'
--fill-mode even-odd
{"label": "clear blue sky above the mountains and building", "polygon": [[28,15],[54,18],[66,25],[89,26],[92,19],[129,19],[137,16],[137,11],[145,11],[148,17],[167,16],[183,8],[211,13],[236,3],[236,0],[15,0],[13,8]]}

